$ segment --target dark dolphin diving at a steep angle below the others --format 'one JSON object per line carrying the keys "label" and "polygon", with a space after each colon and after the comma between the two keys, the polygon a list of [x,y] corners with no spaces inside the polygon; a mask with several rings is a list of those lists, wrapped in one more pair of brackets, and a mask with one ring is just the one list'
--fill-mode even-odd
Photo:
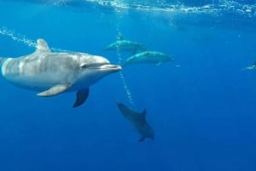
{"label": "dark dolphin diving at a steep angle below the others", "polygon": [[154,140],[154,131],[146,121],[146,110],[140,113],[132,110],[131,108],[127,107],[122,103],[117,102],[117,105],[122,115],[128,121],[130,121],[133,124],[133,126],[137,129],[138,133],[141,134],[142,137],[139,140],[140,142],[142,142],[146,138]]}

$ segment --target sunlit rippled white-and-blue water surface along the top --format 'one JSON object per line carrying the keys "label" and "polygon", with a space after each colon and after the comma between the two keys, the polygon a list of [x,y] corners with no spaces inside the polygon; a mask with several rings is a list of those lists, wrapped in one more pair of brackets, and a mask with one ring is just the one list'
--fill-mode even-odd
{"label": "sunlit rippled white-and-blue water surface along the top", "polygon": [[248,17],[256,16],[256,4],[243,4],[230,0],[212,1],[201,6],[187,5],[183,1],[156,0],[85,0],[87,3],[97,4],[99,6],[110,7],[113,9],[136,9],[141,11],[166,12],[168,14],[239,14]]}

